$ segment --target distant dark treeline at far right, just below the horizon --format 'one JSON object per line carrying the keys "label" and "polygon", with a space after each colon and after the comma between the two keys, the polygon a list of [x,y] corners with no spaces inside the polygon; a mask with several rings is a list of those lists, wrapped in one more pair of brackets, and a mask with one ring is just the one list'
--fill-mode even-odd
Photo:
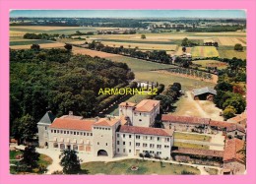
{"label": "distant dark treeline at far right, just below the horizon", "polygon": [[189,28],[188,32],[221,32],[221,31],[240,31],[245,29],[243,26],[214,26],[207,28]]}

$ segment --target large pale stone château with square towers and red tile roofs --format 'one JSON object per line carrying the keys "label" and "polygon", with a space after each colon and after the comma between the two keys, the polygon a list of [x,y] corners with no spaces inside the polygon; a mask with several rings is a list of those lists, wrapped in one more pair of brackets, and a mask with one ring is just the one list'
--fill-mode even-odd
{"label": "large pale stone ch\u00e2teau with square towers and red tile roofs", "polygon": [[72,149],[95,156],[151,153],[170,157],[173,131],[150,127],[160,113],[160,101],[125,102],[119,108],[119,117],[94,119],[70,113],[53,120],[45,118],[51,114],[47,112],[37,124],[39,147]]}

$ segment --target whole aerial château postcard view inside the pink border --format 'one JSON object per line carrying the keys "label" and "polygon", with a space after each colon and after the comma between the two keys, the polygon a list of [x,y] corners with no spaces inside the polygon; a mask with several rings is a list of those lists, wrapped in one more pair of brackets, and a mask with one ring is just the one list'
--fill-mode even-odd
{"label": "whole aerial ch\u00e2teau postcard view inside the pink border", "polygon": [[245,10],[10,11],[10,174],[246,174]]}

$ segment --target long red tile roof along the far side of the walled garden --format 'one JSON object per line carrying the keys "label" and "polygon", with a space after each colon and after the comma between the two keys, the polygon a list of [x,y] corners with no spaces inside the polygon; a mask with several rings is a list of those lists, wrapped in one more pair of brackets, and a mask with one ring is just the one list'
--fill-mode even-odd
{"label": "long red tile roof along the far side of the walled garden", "polygon": [[161,116],[161,121],[173,122],[173,123],[191,123],[191,124],[205,124],[208,125],[210,118],[200,118],[200,117],[189,117],[189,116],[174,116],[170,114],[163,114]]}

